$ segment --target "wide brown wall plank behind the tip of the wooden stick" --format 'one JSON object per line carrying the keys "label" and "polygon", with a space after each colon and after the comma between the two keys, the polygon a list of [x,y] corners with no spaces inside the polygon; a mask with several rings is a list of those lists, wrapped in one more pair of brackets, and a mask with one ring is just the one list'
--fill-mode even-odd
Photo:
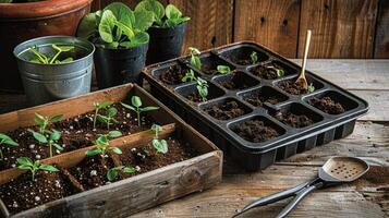
{"label": "wide brown wall plank behind the tip of the wooden stick", "polygon": [[309,58],[373,58],[378,0],[302,0],[299,58],[313,31]]}

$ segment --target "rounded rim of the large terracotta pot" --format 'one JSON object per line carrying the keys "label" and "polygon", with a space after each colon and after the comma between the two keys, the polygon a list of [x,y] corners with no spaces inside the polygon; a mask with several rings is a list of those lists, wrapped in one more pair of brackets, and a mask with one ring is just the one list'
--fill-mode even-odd
{"label": "rounded rim of the large terracotta pot", "polygon": [[0,3],[0,19],[46,17],[84,8],[93,0],[44,0],[27,3]]}

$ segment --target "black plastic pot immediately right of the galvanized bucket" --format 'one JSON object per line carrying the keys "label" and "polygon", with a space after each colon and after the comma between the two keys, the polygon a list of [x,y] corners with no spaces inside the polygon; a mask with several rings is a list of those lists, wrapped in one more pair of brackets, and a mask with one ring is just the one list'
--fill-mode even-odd
{"label": "black plastic pot immediately right of the galvanized bucket", "polygon": [[148,44],[129,49],[110,49],[96,46],[94,56],[99,89],[125,83],[142,85]]}

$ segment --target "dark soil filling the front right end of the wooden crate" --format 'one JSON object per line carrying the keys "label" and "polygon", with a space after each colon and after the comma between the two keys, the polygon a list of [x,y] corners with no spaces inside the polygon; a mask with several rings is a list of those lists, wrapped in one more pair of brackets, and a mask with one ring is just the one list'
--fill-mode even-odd
{"label": "dark soil filling the front right end of the wooden crate", "polygon": [[191,159],[199,154],[191,148],[189,143],[175,138],[168,138],[168,153],[160,154],[151,144],[145,146],[124,148],[122,155],[113,155],[120,158],[123,166],[138,168],[135,173],[120,173],[121,179],[145,173],[174,162]]}

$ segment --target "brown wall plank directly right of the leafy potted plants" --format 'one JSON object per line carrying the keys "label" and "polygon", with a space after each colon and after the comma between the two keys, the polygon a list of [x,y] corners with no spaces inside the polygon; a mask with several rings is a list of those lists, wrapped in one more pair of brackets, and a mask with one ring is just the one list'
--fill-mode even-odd
{"label": "brown wall plank directly right of the leafy potted plants", "polygon": [[200,50],[232,41],[233,0],[170,0],[190,16],[183,52],[190,46]]}

